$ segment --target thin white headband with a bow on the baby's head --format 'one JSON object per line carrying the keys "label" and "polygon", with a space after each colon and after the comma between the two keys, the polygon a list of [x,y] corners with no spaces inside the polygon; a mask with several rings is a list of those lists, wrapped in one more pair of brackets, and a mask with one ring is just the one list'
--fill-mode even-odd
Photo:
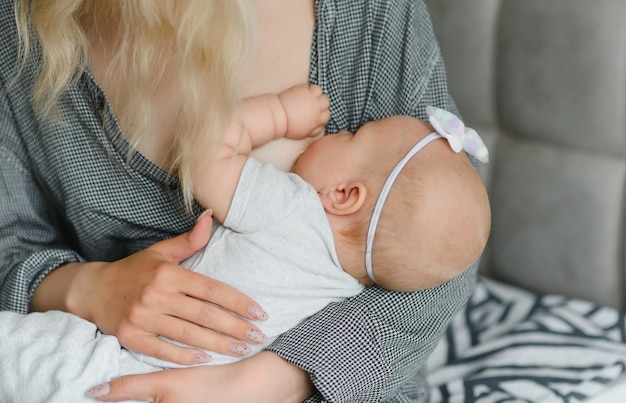
{"label": "thin white headband with a bow on the baby's head", "polygon": [[376,282],[376,279],[374,278],[374,269],[372,268],[372,247],[374,245],[376,227],[378,226],[378,220],[380,219],[380,214],[382,213],[383,206],[385,205],[385,200],[387,200],[387,196],[389,196],[389,191],[407,162],[409,162],[409,160],[428,143],[438,138],[445,138],[448,140],[448,144],[450,144],[450,147],[454,152],[458,153],[463,150],[476,157],[476,159],[481,162],[486,163],[489,161],[489,153],[482,139],[476,131],[470,129],[469,127],[465,127],[461,119],[448,111],[432,106],[426,107],[426,113],[428,114],[430,124],[435,128],[436,132],[430,133],[428,136],[418,141],[417,144],[415,144],[404,156],[404,158],[396,164],[387,177],[387,180],[380,191],[380,195],[378,196],[378,200],[376,201],[376,205],[374,206],[374,211],[372,212],[372,219],[367,230],[367,239],[365,241],[365,271],[373,282]]}

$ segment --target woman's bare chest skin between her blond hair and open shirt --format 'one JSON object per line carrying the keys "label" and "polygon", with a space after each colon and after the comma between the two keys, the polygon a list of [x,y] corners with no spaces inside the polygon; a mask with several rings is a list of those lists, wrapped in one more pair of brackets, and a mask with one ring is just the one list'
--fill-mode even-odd
{"label": "woman's bare chest skin between her blond hair and open shirt", "polygon": [[[250,57],[250,65],[241,88],[242,96],[262,93],[277,93],[290,86],[307,82],[310,71],[311,44],[315,25],[314,2],[292,0],[255,1],[255,53]],[[106,74],[110,60],[106,47],[94,47],[92,70],[96,81],[107,94],[114,113],[122,117],[124,135],[130,138],[130,130],[125,127],[123,118],[124,100],[132,89],[129,85],[120,85]],[[174,143],[176,119],[179,111],[176,65],[168,64],[160,78],[154,93],[148,102],[152,111],[145,127],[147,135],[140,134],[141,141],[136,143],[136,150],[160,167],[167,166],[168,151]],[[267,147],[260,155],[265,161],[276,162],[296,154],[302,148],[300,142],[278,142]],[[289,165],[287,163],[286,165]]]}

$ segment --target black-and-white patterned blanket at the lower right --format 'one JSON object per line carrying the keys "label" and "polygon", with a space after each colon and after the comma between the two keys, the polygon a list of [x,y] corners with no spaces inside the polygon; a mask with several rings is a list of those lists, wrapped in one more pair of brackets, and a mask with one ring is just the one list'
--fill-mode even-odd
{"label": "black-and-white patterned blanket at the lower right", "polygon": [[584,401],[626,371],[625,319],[482,278],[429,361],[431,401]]}

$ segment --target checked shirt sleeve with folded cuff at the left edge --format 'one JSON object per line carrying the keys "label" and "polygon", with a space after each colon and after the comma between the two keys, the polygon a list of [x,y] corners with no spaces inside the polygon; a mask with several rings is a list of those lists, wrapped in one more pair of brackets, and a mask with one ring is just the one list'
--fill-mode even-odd
{"label": "checked shirt sleeve with folded cuff at the left edge", "polygon": [[0,91],[0,309],[27,313],[50,271],[82,259],[63,246],[56,229],[60,220],[28,169],[6,93]]}

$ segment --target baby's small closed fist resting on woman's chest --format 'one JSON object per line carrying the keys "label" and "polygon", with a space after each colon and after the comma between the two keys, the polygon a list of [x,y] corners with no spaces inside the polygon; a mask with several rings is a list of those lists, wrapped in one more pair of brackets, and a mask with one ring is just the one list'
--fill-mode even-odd
{"label": "baby's small closed fist resting on woman's chest", "polygon": [[330,101],[319,85],[296,85],[279,93],[278,99],[287,115],[287,138],[316,136],[330,119]]}

